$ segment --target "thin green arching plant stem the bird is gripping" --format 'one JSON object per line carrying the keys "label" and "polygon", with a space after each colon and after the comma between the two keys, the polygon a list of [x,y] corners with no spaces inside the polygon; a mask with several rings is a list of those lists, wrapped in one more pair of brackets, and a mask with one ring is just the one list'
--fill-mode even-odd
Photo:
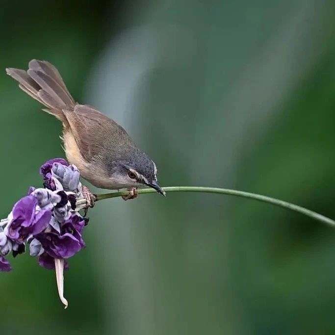
{"label": "thin green arching plant stem the bird is gripping", "polygon": [[[264,195],[259,195],[255,193],[249,193],[249,192],[243,192],[243,191],[237,191],[227,188],[217,188],[217,187],[198,187],[198,186],[174,186],[174,187],[164,187],[165,192],[202,192],[202,193],[217,193],[217,194],[226,194],[226,195],[233,195],[236,197],[242,197],[242,198],[249,198],[261,201],[263,203],[272,204],[275,206],[280,206],[286,209],[293,210],[295,212],[304,214],[309,216],[310,218],[326,223],[331,226],[335,226],[335,221],[323,216],[319,213],[313,212],[312,210],[309,210],[307,208],[293,205],[290,203],[287,203],[283,200],[278,200],[270,197],[266,197]],[[147,193],[155,193],[156,191],[152,188],[145,188],[145,189],[139,189],[137,191],[138,194],[147,194]],[[100,201],[103,199],[109,199],[109,198],[116,198],[121,197],[123,195],[128,195],[128,191],[123,192],[113,192],[113,193],[105,193],[105,194],[97,194],[95,195],[96,201]]]}

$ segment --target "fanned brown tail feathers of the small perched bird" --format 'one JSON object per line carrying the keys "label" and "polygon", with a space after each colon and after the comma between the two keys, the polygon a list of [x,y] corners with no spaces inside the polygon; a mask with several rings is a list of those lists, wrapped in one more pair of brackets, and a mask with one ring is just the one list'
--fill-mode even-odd
{"label": "fanned brown tail feathers of the small perched bird", "polygon": [[32,98],[47,106],[46,112],[65,121],[63,110],[72,109],[75,101],[58,70],[49,62],[33,59],[27,71],[7,68],[7,75],[19,82],[19,87]]}

